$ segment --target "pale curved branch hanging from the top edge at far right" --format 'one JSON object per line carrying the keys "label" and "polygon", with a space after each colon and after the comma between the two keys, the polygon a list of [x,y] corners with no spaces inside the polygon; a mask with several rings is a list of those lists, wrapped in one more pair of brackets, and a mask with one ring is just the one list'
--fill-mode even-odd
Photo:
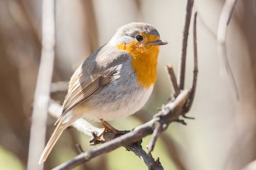
{"label": "pale curved branch hanging from the top edge at far right", "polygon": [[229,60],[227,57],[227,49],[226,49],[226,34],[227,34],[227,26],[228,23],[232,17],[232,14],[234,13],[234,9],[236,7],[237,0],[226,0],[225,4],[222,8],[219,22],[218,22],[218,31],[217,31],[217,46],[218,46],[218,52],[220,57],[223,60],[224,68],[229,74],[229,78],[231,81],[231,84],[236,92],[236,98],[239,99],[238,89],[236,86],[235,77],[233,75],[232,69],[229,64]]}

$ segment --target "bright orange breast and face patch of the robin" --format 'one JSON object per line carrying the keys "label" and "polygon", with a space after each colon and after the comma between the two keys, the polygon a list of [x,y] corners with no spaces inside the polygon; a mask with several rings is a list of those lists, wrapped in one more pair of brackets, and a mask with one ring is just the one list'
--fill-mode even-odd
{"label": "bright orange breast and face patch of the robin", "polygon": [[[147,41],[155,41],[157,35],[147,35]],[[152,37],[150,37],[152,36]],[[129,44],[120,43],[118,49],[127,51],[132,57],[132,67],[137,74],[137,81],[140,86],[148,89],[155,84],[157,78],[157,64],[159,47],[151,44],[139,44],[133,41]]]}

